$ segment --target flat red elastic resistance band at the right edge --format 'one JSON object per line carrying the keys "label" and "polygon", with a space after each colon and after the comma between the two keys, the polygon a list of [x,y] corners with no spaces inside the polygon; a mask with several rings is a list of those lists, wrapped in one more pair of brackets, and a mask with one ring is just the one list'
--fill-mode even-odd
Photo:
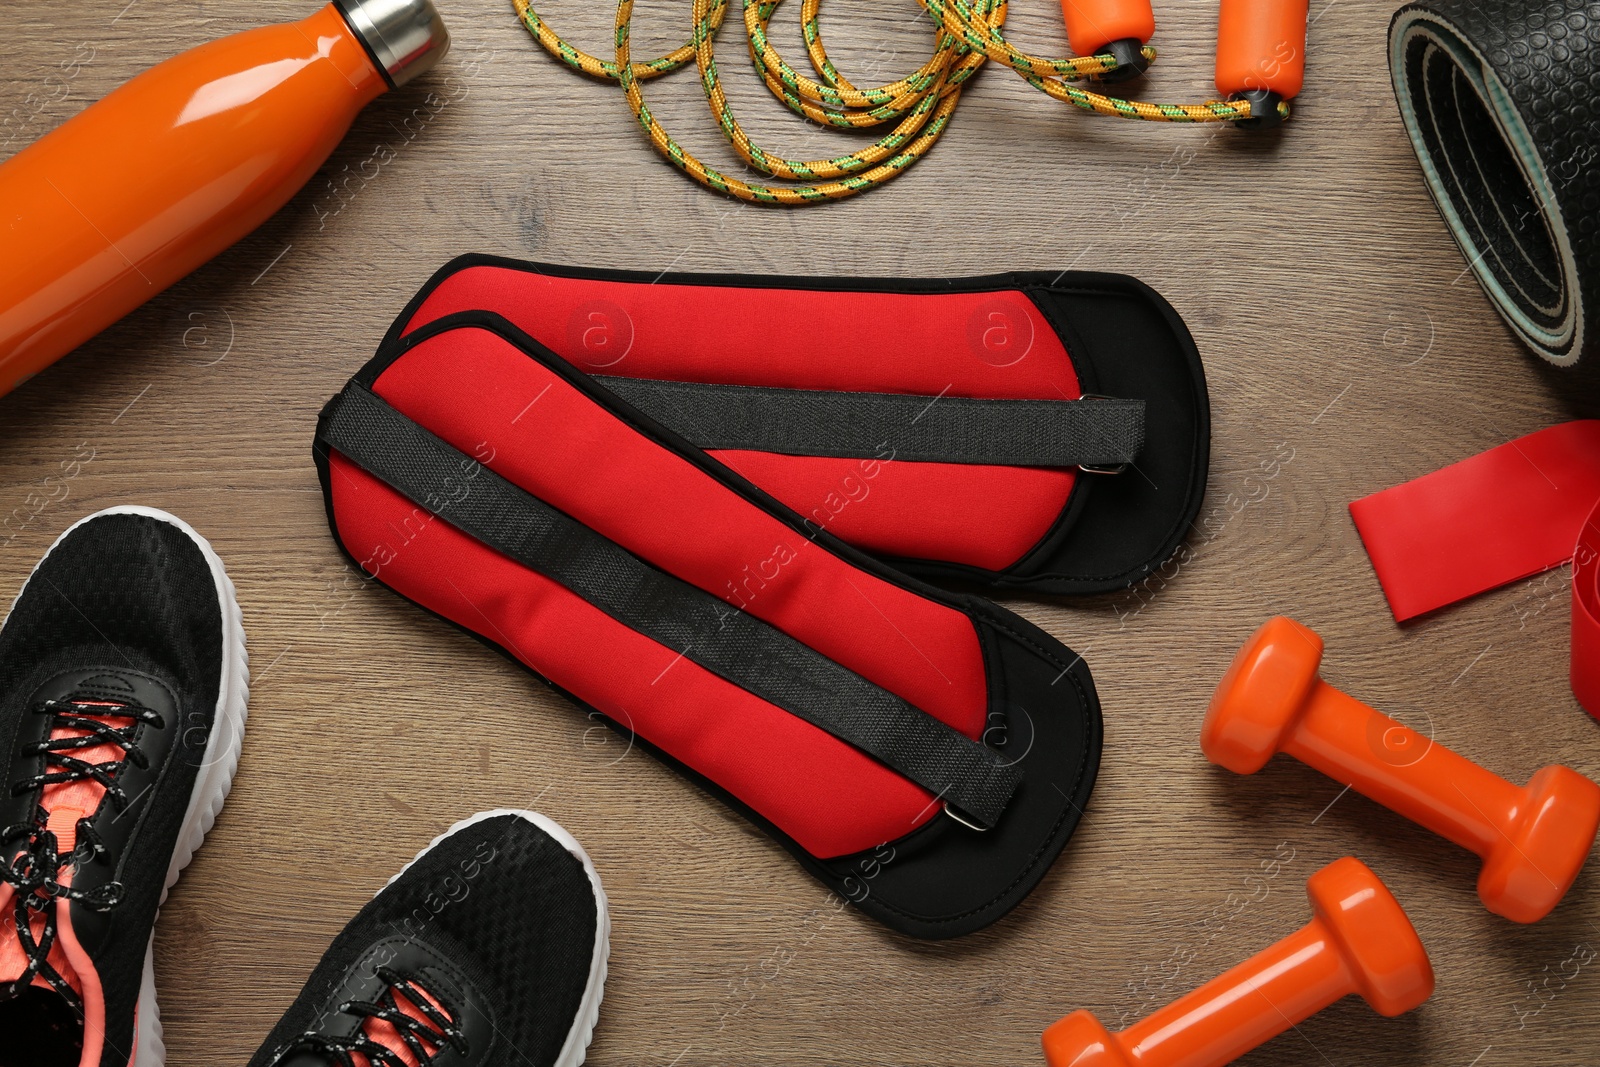
{"label": "flat red elastic resistance band at the right edge", "polygon": [[1600,717],[1600,421],[1520,437],[1350,504],[1395,619],[1573,563],[1573,693]]}

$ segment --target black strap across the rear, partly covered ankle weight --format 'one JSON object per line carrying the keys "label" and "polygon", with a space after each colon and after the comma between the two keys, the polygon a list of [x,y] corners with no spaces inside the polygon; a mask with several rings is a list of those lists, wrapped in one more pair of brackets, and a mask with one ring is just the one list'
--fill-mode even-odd
{"label": "black strap across the rear, partly covered ankle weight", "polygon": [[1014,467],[1118,467],[1144,448],[1142,400],[974,400],[598,381],[699,448]]}

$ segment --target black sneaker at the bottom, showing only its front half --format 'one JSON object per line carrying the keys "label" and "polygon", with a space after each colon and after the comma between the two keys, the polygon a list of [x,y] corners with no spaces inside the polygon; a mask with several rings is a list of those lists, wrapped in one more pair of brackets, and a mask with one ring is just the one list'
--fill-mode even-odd
{"label": "black sneaker at the bottom, showing only its front half", "polygon": [[485,811],[350,920],[250,1067],[578,1067],[610,939],[582,846]]}

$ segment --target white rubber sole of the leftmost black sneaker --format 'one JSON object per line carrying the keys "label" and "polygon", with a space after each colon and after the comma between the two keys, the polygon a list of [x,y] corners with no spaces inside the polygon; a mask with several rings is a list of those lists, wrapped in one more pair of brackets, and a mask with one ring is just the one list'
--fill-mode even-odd
{"label": "white rubber sole of the leftmost black sneaker", "polygon": [[[206,565],[211,568],[211,581],[216,582],[218,601],[222,605],[222,677],[218,683],[216,720],[211,726],[211,736],[206,737],[205,761],[195,776],[194,792],[189,795],[189,809],[184,813],[184,822],[178,832],[173,862],[166,869],[166,883],[162,886],[162,904],[165,904],[166,891],[178,881],[179,872],[194,859],[195,849],[200,848],[206,832],[216,822],[216,816],[222,809],[222,801],[227,798],[227,790],[234,784],[234,771],[238,768],[238,749],[245,741],[246,704],[250,702],[250,662],[245,653],[245,622],[238,609],[238,597],[234,593],[234,582],[229,579],[227,571],[222,569],[222,560],[218,558],[211,544],[195,533],[189,523],[163,510],[133,504],[107,507],[67,526],[66,533],[50,545],[50,550],[54,552],[56,545],[74,530],[101,515],[146,515],[178,526],[184,536],[195,542],[205,557]],[[38,563],[34,565],[34,569],[37,571],[48,558],[50,552],[45,552]],[[166,1045],[162,1041],[162,1014],[155,1006],[154,947],[155,934],[152,933],[144,949],[144,977],[139,984],[139,1001],[134,1011],[131,1067],[162,1067],[166,1061]]]}

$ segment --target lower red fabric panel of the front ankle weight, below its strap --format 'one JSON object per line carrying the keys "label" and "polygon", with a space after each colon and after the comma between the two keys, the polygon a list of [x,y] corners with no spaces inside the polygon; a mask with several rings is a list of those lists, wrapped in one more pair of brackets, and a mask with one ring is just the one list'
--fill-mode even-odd
{"label": "lower red fabric panel of the front ankle weight, below its strap", "polygon": [[874,848],[939,813],[922,787],[427,515],[338,453],[328,467],[339,537],[363,569],[714,779],[813,856]]}

